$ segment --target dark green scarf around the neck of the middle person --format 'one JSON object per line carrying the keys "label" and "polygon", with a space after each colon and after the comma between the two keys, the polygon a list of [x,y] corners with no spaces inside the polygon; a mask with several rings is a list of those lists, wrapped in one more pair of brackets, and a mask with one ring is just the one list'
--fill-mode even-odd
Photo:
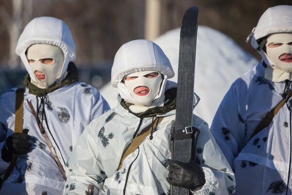
{"label": "dark green scarf around the neck of the middle person", "polygon": [[164,106],[157,106],[157,107],[149,108],[143,113],[133,113],[129,109],[129,106],[133,105],[133,104],[124,101],[124,99],[122,100],[121,105],[126,110],[128,110],[130,113],[132,113],[133,115],[135,115],[137,117],[155,117],[157,115],[163,115],[165,113],[168,113],[169,111],[174,110],[176,108],[176,93],[177,93],[176,88],[168,89],[164,93],[165,99],[168,99],[167,103],[164,104]]}

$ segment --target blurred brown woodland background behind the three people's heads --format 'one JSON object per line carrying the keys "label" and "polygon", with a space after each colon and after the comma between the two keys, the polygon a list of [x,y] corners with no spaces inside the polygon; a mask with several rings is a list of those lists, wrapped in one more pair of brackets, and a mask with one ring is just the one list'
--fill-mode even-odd
{"label": "blurred brown woodland background behind the three people's heads", "polygon": [[[199,7],[199,24],[215,28],[258,55],[245,43],[261,14],[292,0],[154,0],[160,4],[159,33],[181,25],[183,13]],[[77,65],[112,60],[117,49],[132,39],[145,38],[146,0],[0,0],[0,66],[20,66],[14,50],[24,26],[33,18],[64,20],[72,31]]]}

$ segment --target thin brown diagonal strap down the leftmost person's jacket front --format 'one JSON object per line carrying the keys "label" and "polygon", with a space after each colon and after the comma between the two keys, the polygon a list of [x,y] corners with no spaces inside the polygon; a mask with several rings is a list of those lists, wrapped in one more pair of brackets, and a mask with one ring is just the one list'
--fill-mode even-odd
{"label": "thin brown diagonal strap down the leftmost person's jacket front", "polygon": [[47,142],[47,145],[49,146],[49,148],[51,150],[51,153],[52,153],[52,155],[53,155],[53,157],[55,159],[55,162],[57,163],[57,166],[59,167],[59,170],[60,170],[60,172],[61,172],[64,180],[66,181],[67,177],[66,177],[66,174],[65,174],[65,170],[64,170],[64,168],[63,168],[63,166],[62,166],[62,164],[61,164],[61,162],[60,162],[60,160],[59,160],[59,158],[58,158],[58,156],[57,156],[57,154],[55,152],[55,148],[53,147],[53,145],[52,145],[52,143],[51,143],[51,141],[50,141],[50,139],[49,139],[49,137],[48,137],[48,135],[47,135],[47,133],[45,131],[45,128],[42,126],[41,121],[37,117],[37,112],[34,109],[34,106],[33,106],[32,102],[30,102],[30,101],[27,100],[27,103],[28,103],[31,111],[33,112],[33,114],[35,115],[35,117],[37,119],[37,124],[38,124],[39,130],[40,130],[40,133],[45,138],[45,140]]}

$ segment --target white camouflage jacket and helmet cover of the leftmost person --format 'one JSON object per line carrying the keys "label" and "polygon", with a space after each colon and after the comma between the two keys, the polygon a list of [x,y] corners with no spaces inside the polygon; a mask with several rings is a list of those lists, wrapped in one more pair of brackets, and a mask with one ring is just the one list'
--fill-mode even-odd
{"label": "white camouflage jacket and helmet cover of the leftmost person", "polygon": [[[41,17],[32,20],[30,24],[33,24],[34,27],[28,25],[29,27],[23,32],[25,35],[22,35],[25,38],[22,37],[23,39],[19,39],[18,42],[18,46],[23,46],[23,51],[32,43],[51,43],[59,45],[63,51],[67,52],[64,52],[65,59],[72,50],[72,56],[69,59],[73,59],[75,55],[73,39],[69,28],[62,20]],[[37,36],[38,28],[42,31],[50,25],[53,25],[56,34],[48,32],[48,35],[45,31],[41,33],[42,37]],[[67,36],[67,41],[65,38],[58,39],[64,34]],[[68,41],[70,38],[71,42]],[[82,82],[61,86],[47,94],[44,99],[44,104],[41,104],[40,97],[29,93],[28,88],[25,89],[23,129],[29,130],[28,135],[32,147],[28,154],[18,157],[14,169],[2,186],[1,195],[62,195],[65,191],[65,181],[40,133],[37,119],[27,100],[32,102],[36,111],[39,110],[39,118],[41,118],[41,112],[44,111],[46,117],[43,118],[42,125],[64,169],[66,169],[66,162],[84,128],[92,119],[110,109],[108,103],[96,89]],[[6,93],[0,98],[0,151],[5,147],[5,139],[14,133],[15,104],[15,91]],[[9,163],[0,158],[2,176],[8,165]]]}

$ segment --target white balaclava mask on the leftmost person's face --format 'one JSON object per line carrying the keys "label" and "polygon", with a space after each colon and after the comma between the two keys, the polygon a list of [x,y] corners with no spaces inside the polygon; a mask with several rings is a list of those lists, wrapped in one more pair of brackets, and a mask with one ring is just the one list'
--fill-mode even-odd
{"label": "white balaclava mask on the leftmost person's face", "polygon": [[59,47],[49,44],[34,44],[27,49],[26,56],[37,81],[31,79],[34,85],[46,89],[55,83],[64,62],[64,53]]}

